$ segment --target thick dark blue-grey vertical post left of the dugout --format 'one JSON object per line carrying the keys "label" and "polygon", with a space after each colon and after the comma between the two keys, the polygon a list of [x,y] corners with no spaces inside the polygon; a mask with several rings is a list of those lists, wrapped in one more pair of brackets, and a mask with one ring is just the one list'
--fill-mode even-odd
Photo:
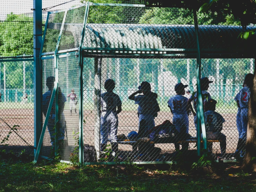
{"label": "thick dark blue-grey vertical post left of the dugout", "polygon": [[34,25],[34,155],[41,135],[41,70],[40,48],[42,44],[42,0],[33,0],[33,25]]}

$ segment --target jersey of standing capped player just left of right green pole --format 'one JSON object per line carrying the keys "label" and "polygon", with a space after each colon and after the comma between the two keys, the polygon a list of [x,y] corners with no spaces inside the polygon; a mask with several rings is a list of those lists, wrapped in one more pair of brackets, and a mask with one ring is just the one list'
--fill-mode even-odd
{"label": "jersey of standing capped player just left of right green pole", "polygon": [[173,114],[187,113],[188,98],[183,95],[174,95],[168,101]]}

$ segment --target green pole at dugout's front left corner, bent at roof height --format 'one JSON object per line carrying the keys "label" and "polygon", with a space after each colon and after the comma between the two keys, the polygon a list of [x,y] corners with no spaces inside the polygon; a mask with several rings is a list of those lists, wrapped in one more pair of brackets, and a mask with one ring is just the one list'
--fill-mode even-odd
{"label": "green pole at dugout's front left corner, bent at roof height", "polygon": [[85,9],[85,16],[83,22],[83,30],[81,33],[81,41],[78,50],[79,56],[79,163],[82,165],[84,163],[84,113],[83,113],[83,102],[84,102],[84,62],[83,62],[83,54],[82,54],[82,47],[84,42],[84,34],[85,34],[85,27],[88,18],[88,11],[89,11],[89,3],[86,4]]}

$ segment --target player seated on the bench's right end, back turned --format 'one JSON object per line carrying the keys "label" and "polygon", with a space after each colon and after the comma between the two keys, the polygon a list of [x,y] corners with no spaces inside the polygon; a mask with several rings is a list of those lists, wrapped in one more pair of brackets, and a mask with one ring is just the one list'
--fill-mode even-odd
{"label": "player seated on the bench's right end, back turned", "polygon": [[[217,101],[208,99],[205,103],[207,111],[204,113],[206,137],[211,140],[221,140],[221,156],[225,157],[226,154],[226,136],[221,132],[223,123],[225,122],[221,114],[215,112]],[[212,151],[212,143],[208,146],[209,151]]]}

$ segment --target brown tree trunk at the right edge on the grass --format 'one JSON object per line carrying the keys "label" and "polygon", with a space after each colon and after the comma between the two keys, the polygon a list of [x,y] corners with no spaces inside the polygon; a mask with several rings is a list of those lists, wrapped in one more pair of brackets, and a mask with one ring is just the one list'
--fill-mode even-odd
{"label": "brown tree trunk at the right edge on the grass", "polygon": [[247,126],[247,141],[246,141],[246,153],[245,159],[242,165],[242,169],[245,171],[256,171],[256,74],[254,71],[253,89],[249,99],[249,111],[248,111],[248,126]]}

